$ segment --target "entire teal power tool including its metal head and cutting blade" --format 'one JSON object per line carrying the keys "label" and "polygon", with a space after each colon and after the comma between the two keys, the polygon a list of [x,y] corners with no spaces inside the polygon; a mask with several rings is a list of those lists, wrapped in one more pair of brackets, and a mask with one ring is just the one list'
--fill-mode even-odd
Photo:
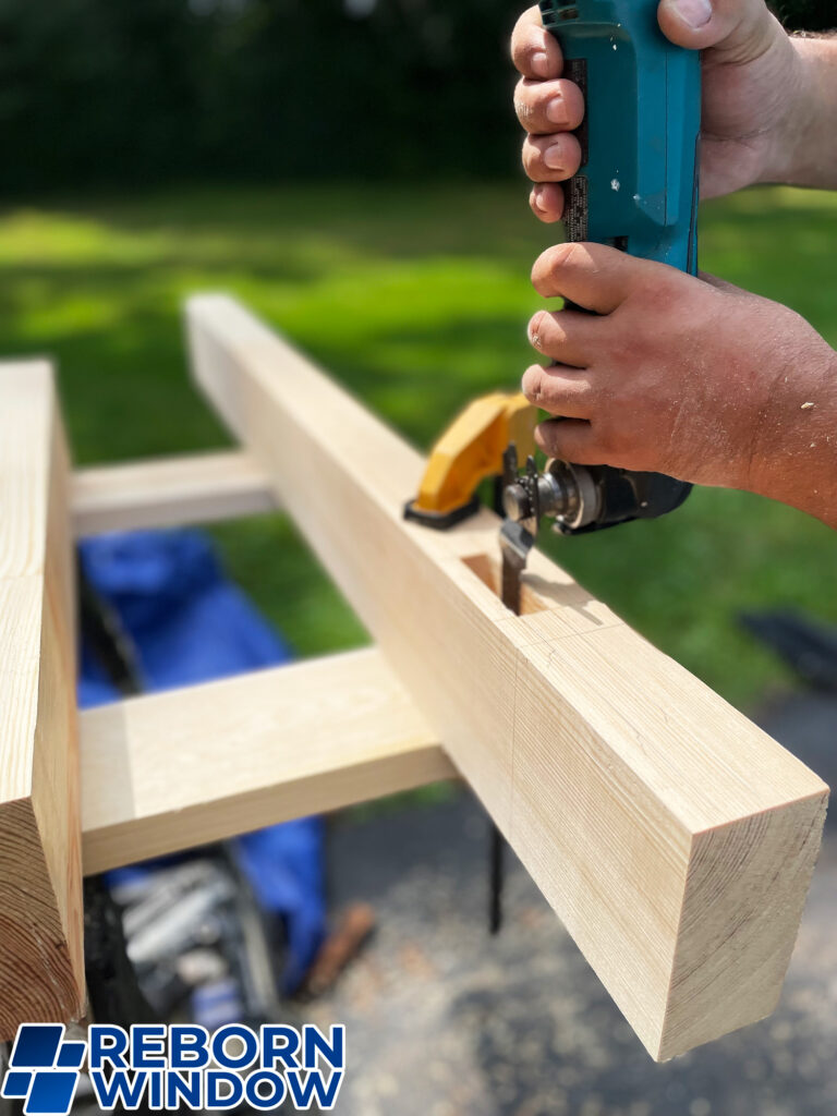
{"label": "entire teal power tool including its metal head and cutting blade", "polygon": [[[610,244],[698,271],[701,70],[696,51],[670,42],[657,0],[542,0],[543,25],[581,87],[581,166],[565,184],[569,241]],[[691,485],[657,473],[550,461],[525,472],[504,462],[503,597],[519,610],[520,576],[542,518],[562,535],[655,519],[679,508]]]}

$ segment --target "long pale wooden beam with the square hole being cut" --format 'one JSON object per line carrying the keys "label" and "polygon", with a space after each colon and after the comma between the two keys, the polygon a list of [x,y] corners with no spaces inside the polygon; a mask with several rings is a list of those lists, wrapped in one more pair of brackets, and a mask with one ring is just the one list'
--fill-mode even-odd
{"label": "long pale wooden beam with the square hole being cut", "polygon": [[417,453],[232,300],[187,319],[198,384],[650,1052],[771,1012],[821,780],[540,555],[512,616],[492,513],[405,523]]}

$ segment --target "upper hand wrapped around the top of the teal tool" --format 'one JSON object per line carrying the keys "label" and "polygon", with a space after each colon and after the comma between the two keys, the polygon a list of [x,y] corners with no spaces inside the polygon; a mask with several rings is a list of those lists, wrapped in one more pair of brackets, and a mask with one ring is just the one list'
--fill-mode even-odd
{"label": "upper hand wrapped around the top of the teal tool", "polygon": [[[788,38],[764,0],[662,0],[658,18],[673,42],[703,51],[702,196],[753,182],[801,181],[795,167],[815,112],[808,90],[817,85],[804,40]],[[573,177],[580,161],[570,133],[584,115],[581,93],[561,79],[560,48],[537,7],[521,16],[511,49],[522,74],[514,104],[529,133],[523,165],[536,183],[531,206],[541,221],[558,221],[558,183]],[[828,122],[835,107],[822,106]]]}

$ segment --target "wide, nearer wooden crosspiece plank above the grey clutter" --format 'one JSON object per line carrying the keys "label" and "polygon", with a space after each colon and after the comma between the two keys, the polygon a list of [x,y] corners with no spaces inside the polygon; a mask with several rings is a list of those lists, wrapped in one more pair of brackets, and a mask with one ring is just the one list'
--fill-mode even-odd
{"label": "wide, nearer wooden crosspiece plank above the grey clutter", "polygon": [[81,714],[86,875],[455,775],[377,651]]}

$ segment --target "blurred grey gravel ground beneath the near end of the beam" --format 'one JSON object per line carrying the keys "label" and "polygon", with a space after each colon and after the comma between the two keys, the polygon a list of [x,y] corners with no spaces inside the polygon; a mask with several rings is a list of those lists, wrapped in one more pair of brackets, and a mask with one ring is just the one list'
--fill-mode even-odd
{"label": "blurred grey gravel ground beneath the near end of the beam", "polygon": [[[761,720],[837,781],[837,702],[795,698]],[[487,831],[466,795],[331,827],[334,910],[365,899],[378,918],[362,956],[305,1010],[321,1026],[347,1024],[339,1116],[837,1113],[837,828],[777,1013],[664,1066],[517,862],[506,927],[488,935]]]}

